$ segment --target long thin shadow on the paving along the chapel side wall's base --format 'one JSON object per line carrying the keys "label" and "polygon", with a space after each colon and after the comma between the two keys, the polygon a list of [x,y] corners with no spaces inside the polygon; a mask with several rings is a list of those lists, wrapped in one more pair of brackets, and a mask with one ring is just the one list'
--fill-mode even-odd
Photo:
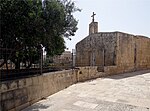
{"label": "long thin shadow on the paving along the chapel side wall's base", "polygon": [[128,78],[128,77],[133,77],[136,75],[143,75],[146,73],[150,73],[150,70],[143,70],[143,71],[136,71],[136,72],[129,72],[129,73],[123,73],[123,74],[118,74],[118,75],[113,75],[113,76],[108,76],[106,78],[110,79],[123,79],[123,78]]}

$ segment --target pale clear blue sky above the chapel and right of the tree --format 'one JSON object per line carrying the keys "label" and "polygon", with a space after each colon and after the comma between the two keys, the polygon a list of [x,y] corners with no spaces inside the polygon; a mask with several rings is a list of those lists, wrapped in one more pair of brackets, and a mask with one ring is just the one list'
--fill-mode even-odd
{"label": "pale clear blue sky above the chapel and right of the tree", "polygon": [[81,12],[74,14],[79,20],[78,31],[72,40],[65,40],[69,50],[88,35],[92,12],[96,13],[99,32],[121,31],[150,37],[150,0],[74,0]]}

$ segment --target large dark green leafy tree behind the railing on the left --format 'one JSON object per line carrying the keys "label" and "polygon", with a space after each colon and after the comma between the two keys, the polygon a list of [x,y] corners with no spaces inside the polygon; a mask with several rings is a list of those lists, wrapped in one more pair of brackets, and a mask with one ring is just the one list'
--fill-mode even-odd
{"label": "large dark green leafy tree behind the railing on the left", "polygon": [[6,50],[0,52],[4,59],[0,67],[7,60],[16,69],[26,61],[30,63],[26,67],[30,67],[39,58],[41,46],[50,56],[61,54],[64,37],[74,36],[77,31],[76,11],[80,9],[68,0],[1,0],[0,48]]}

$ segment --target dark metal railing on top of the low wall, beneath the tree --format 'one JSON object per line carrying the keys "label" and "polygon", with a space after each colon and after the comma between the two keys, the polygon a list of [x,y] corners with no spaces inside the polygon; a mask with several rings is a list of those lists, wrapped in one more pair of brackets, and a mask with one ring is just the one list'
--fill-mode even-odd
{"label": "dark metal railing on top of the low wall, beneath the tree", "polygon": [[24,58],[20,58],[20,61],[23,62],[20,62],[20,67],[16,68],[16,64],[9,59],[12,51],[13,49],[0,48],[0,81],[26,78],[52,71],[73,69],[75,67],[75,52],[72,52],[69,61],[54,62],[53,57],[45,57],[43,51],[40,51],[39,58],[36,58],[36,62],[32,63],[31,67],[26,67],[30,64],[30,61],[24,61]]}

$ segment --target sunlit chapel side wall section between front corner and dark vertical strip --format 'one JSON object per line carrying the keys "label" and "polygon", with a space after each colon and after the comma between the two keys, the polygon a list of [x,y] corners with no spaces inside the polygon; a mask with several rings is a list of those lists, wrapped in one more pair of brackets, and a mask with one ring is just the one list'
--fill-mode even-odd
{"label": "sunlit chapel side wall section between front corner and dark vertical strip", "polygon": [[118,33],[117,48],[118,71],[129,72],[135,70],[135,36],[125,33]]}

